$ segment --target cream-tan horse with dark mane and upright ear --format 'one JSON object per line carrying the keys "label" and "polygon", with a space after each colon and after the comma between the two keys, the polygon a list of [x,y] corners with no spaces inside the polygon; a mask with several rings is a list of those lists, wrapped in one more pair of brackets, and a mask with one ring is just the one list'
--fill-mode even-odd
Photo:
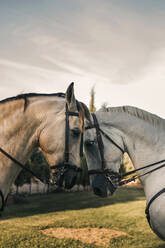
{"label": "cream-tan horse with dark mane and upright ear", "polygon": [[0,101],[1,210],[21,170],[19,163],[24,164],[36,147],[53,169],[59,164],[61,168],[70,168],[64,181],[66,188],[72,187],[74,169],[80,167],[80,142],[86,114],[87,108],[75,99],[73,83],[66,94],[29,93]]}

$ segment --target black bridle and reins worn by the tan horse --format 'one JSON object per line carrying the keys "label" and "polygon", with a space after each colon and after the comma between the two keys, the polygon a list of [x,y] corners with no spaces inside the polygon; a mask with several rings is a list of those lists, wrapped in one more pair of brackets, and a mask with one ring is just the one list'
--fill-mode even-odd
{"label": "black bridle and reins worn by the tan horse", "polygon": [[[56,96],[59,97],[64,97],[65,95],[63,93],[57,93]],[[58,185],[58,181],[56,179],[56,177],[63,177],[63,175],[68,171],[68,170],[74,170],[76,173],[79,173],[82,171],[81,168],[77,167],[76,165],[72,165],[69,162],[69,135],[70,135],[70,128],[69,128],[69,116],[76,116],[79,117],[79,113],[78,112],[71,112],[68,110],[68,105],[66,103],[66,111],[65,111],[65,152],[64,152],[64,163],[61,165],[54,165],[51,166],[50,169],[56,169],[56,173],[54,174],[54,180],[53,182],[51,182],[51,185]],[[10,159],[12,162],[14,162],[15,164],[17,164],[19,167],[21,167],[22,169],[28,171],[29,173],[31,173],[34,177],[36,177],[38,180],[40,180],[42,183],[47,183],[50,184],[50,181],[48,178],[46,178],[46,180],[43,180],[43,178],[39,177],[36,173],[34,173],[31,169],[27,168],[24,164],[22,164],[21,162],[19,162],[17,159],[15,159],[13,156],[11,156],[8,152],[6,152],[4,149],[2,149],[0,147],[0,152],[2,154],[4,154],[8,159]],[[80,141],[80,157],[83,156],[83,133],[81,133],[81,141]],[[59,185],[58,185],[59,186]],[[1,197],[1,201],[2,201],[2,206],[0,208],[0,211],[3,211],[4,207],[5,207],[5,198],[3,195],[2,190],[0,190],[0,197]]]}

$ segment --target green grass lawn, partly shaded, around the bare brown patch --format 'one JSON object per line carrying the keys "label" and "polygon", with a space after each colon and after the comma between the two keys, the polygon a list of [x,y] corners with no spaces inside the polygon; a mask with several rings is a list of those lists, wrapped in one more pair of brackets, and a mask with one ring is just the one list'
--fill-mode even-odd
{"label": "green grass lawn, partly shaded, around the bare brown patch", "polygon": [[35,195],[26,200],[24,204],[6,207],[0,220],[0,248],[96,247],[39,232],[49,227],[98,227],[129,234],[113,238],[104,247],[165,247],[145,218],[142,189],[121,188],[109,198],[99,198],[91,192],[76,192]]}

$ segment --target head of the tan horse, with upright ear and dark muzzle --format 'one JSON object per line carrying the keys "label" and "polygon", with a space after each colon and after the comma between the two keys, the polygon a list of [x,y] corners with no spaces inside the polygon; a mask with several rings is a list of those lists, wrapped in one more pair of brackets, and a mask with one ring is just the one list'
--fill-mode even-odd
{"label": "head of the tan horse, with upright ear and dark muzzle", "polygon": [[[53,105],[56,104],[56,108]],[[39,146],[59,186],[70,189],[80,171],[84,117],[88,109],[78,102],[70,84],[63,101],[49,104],[46,122],[39,136]]]}

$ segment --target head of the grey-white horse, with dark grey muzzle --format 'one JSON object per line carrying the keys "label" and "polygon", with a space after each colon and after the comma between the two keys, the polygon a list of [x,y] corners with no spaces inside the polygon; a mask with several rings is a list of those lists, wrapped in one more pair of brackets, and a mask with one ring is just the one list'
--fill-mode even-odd
{"label": "head of the grey-white horse, with dark grey muzzle", "polygon": [[93,115],[93,118],[91,116],[91,121],[86,122],[84,152],[96,195],[106,197],[108,191],[112,195],[117,189],[124,152],[121,147],[121,136],[113,127],[107,129],[106,122],[101,119],[99,112]]}

